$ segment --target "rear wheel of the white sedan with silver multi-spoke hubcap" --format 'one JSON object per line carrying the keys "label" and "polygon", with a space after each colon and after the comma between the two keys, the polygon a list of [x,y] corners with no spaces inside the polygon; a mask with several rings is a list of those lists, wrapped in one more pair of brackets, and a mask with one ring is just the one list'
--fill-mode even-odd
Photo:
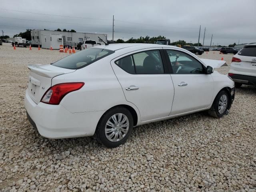
{"label": "rear wheel of the white sedan with silver multi-spoke hubcap", "polygon": [[[119,114],[122,114],[121,118]],[[113,116],[115,116],[117,124],[114,123],[114,118],[112,118]],[[124,119],[126,120],[124,121]],[[118,124],[122,125],[123,121],[124,121],[123,126],[125,125],[127,126],[127,123],[129,123],[129,125],[126,128],[124,127],[122,128],[121,126],[116,126]],[[107,125],[107,122],[108,122],[108,125]],[[100,118],[100,121],[98,122],[94,136],[104,146],[108,148],[114,148],[126,142],[130,134],[132,133],[132,128],[133,128],[133,118],[132,118],[131,112],[124,107],[115,107],[108,110]],[[105,130],[108,130],[108,132],[106,133]]]}

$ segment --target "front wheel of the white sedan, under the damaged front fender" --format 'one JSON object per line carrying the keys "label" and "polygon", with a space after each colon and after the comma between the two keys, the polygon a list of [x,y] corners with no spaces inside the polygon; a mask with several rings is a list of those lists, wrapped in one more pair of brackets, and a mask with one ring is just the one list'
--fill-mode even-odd
{"label": "front wheel of the white sedan, under the damaged front fender", "polygon": [[[221,110],[219,110],[219,107],[222,106],[222,105],[219,105],[221,101],[226,101],[224,102],[226,105],[223,106],[224,108],[221,108]],[[214,99],[212,107],[208,111],[209,115],[216,118],[221,118],[222,116],[224,116],[224,114],[226,114],[229,103],[230,103],[230,96],[228,92],[226,90],[220,91],[217,94],[216,98]]]}

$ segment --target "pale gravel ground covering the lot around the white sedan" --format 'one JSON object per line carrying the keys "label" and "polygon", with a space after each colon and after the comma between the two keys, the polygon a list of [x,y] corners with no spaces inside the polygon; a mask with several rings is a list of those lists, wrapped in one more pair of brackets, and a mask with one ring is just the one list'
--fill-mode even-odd
{"label": "pale gravel ground covering the lot around the white sedan", "polygon": [[[93,138],[52,140],[26,118],[26,66],[67,54],[32,49],[0,46],[1,192],[256,192],[255,87],[237,89],[230,113],[221,119],[200,112],[138,126],[118,148],[104,148]],[[232,56],[224,55],[229,65]]]}

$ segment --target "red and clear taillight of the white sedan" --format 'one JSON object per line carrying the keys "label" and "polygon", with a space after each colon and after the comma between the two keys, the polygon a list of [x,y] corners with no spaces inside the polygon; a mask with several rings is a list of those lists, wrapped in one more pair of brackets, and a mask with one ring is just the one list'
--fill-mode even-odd
{"label": "red and clear taillight of the white sedan", "polygon": [[84,82],[61,83],[50,87],[41,99],[41,102],[58,105],[64,96],[72,91],[79,90]]}

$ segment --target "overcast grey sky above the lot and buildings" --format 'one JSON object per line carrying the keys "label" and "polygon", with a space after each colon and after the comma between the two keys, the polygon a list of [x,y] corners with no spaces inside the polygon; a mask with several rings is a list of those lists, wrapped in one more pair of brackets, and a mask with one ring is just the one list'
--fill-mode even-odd
{"label": "overcast grey sky above the lot and buildings", "polygon": [[214,45],[241,44],[256,42],[255,9],[256,0],[1,0],[0,30],[12,37],[26,28],[66,28],[111,40],[114,15],[114,40],[162,35],[195,43],[201,25],[204,45],[212,34]]}

